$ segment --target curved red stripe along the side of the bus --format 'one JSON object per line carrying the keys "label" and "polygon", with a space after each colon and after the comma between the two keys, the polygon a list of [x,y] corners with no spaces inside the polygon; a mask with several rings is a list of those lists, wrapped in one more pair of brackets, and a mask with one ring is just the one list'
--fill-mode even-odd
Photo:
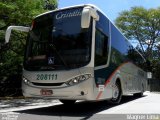
{"label": "curved red stripe along the side of the bus", "polygon": [[[104,87],[106,87],[106,86],[110,83],[110,81],[111,81],[112,77],[114,76],[114,74],[115,74],[122,66],[124,66],[124,65],[127,64],[127,63],[129,63],[129,62],[125,62],[125,63],[121,64],[121,65],[110,75],[110,77],[108,78],[108,80],[105,82]],[[102,93],[103,93],[103,91],[100,91],[100,92],[98,93],[98,95],[97,95],[97,97],[96,97],[96,100],[99,100],[99,98],[101,97]]]}

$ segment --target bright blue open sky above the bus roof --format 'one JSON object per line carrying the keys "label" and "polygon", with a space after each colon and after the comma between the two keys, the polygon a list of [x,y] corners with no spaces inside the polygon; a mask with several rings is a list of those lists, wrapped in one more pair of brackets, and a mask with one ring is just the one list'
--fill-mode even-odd
{"label": "bright blue open sky above the bus roof", "polygon": [[79,5],[94,4],[100,8],[108,18],[114,22],[119,13],[123,10],[130,10],[135,6],[142,6],[146,9],[160,7],[160,0],[58,0],[59,8]]}

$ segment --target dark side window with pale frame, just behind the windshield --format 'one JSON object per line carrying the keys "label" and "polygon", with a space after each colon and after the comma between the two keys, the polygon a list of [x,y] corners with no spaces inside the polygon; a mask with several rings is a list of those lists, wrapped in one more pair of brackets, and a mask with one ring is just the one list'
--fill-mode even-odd
{"label": "dark side window with pale frame, just behind the windshield", "polygon": [[107,63],[108,37],[100,30],[96,29],[95,37],[95,66],[105,65]]}

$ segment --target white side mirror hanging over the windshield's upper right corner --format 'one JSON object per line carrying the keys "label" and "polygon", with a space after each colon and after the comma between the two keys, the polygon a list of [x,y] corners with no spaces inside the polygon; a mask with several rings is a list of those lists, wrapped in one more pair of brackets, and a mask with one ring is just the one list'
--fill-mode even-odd
{"label": "white side mirror hanging over the windshield's upper right corner", "polygon": [[91,17],[96,21],[99,20],[99,15],[95,9],[91,7],[84,7],[81,16],[81,28],[89,28]]}

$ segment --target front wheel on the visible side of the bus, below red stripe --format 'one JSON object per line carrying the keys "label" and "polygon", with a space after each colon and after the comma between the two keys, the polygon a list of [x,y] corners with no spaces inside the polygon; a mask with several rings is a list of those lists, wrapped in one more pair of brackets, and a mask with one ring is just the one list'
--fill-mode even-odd
{"label": "front wheel on the visible side of the bus, below red stripe", "polygon": [[116,81],[116,84],[114,86],[113,97],[111,100],[109,100],[109,102],[111,104],[119,104],[121,99],[122,99],[121,83],[118,80],[118,81]]}

